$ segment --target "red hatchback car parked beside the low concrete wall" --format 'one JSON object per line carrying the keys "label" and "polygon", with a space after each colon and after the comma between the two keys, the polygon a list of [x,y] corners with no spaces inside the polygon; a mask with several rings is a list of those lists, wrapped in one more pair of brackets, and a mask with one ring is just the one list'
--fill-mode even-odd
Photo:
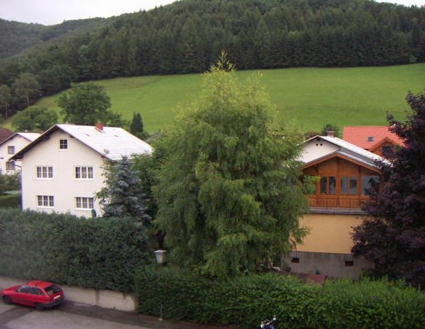
{"label": "red hatchback car parked beside the low concrete wall", "polygon": [[5,304],[23,304],[42,310],[62,303],[64,292],[53,283],[34,280],[1,291],[1,297]]}

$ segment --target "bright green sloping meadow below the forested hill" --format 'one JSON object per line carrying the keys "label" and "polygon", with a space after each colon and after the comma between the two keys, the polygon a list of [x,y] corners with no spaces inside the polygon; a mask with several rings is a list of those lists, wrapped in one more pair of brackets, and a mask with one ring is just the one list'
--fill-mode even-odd
{"label": "bright green sloping meadow below the forested hill", "polygon": [[[243,84],[261,72],[261,84],[279,111],[278,120],[302,131],[320,130],[325,123],[344,125],[385,125],[387,113],[404,119],[409,110],[405,97],[425,89],[425,63],[401,66],[343,69],[296,68],[237,71]],[[145,129],[164,130],[178,109],[199,95],[201,74],[153,75],[99,80],[112,101],[112,109],[131,119],[140,112]],[[44,97],[36,106],[59,110],[59,95]],[[3,122],[10,128],[10,120]]]}

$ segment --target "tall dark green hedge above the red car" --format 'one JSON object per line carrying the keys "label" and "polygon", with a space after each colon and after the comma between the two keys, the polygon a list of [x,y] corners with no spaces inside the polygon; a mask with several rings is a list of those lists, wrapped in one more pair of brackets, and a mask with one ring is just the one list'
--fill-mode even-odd
{"label": "tall dark green hedge above the red car", "polygon": [[147,258],[144,230],[131,219],[0,209],[1,275],[129,292]]}

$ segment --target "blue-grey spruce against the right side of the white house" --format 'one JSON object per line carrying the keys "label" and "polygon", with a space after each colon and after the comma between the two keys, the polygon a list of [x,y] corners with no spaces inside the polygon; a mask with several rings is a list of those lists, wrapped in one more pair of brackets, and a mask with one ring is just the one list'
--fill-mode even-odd
{"label": "blue-grey spruce against the right side of the white house", "polygon": [[129,158],[123,156],[116,162],[107,162],[103,175],[105,187],[96,193],[103,206],[103,217],[133,217],[149,226],[151,217],[146,214],[149,200]]}

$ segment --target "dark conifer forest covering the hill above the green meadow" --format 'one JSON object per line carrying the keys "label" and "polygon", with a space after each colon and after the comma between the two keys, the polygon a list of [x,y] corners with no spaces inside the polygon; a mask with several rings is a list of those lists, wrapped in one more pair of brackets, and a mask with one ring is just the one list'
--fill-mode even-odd
{"label": "dark conifer forest covering the hill above the green meadow", "polygon": [[[10,60],[12,112],[70,82],[206,71],[224,49],[237,69],[425,61],[425,8],[367,0],[183,0],[119,16],[92,34]],[[21,73],[40,90],[14,92]],[[14,95],[15,94],[15,95]]]}

